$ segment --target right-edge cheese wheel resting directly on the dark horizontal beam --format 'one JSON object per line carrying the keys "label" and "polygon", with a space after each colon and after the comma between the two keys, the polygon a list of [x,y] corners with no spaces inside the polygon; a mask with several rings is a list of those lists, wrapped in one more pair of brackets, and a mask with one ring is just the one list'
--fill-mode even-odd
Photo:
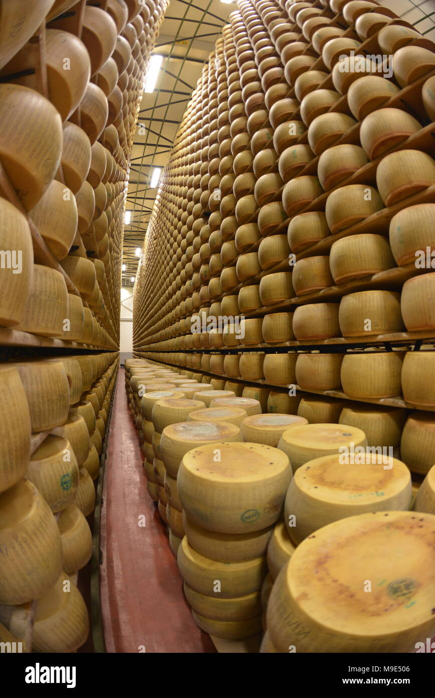
{"label": "right-edge cheese wheel resting directly on the dark horizontal beam", "polygon": [[435,273],[414,276],[405,281],[400,297],[402,318],[408,332],[425,332],[435,327]]}

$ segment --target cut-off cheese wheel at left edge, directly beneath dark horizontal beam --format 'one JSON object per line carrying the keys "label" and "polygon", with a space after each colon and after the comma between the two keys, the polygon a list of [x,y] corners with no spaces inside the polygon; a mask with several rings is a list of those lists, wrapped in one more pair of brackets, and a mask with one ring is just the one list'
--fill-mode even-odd
{"label": "cut-off cheese wheel at left edge, directly beneath dark horizontal beam", "polygon": [[0,404],[0,492],[12,487],[26,474],[31,450],[31,417],[26,392],[17,369],[0,366],[0,388],[7,395]]}

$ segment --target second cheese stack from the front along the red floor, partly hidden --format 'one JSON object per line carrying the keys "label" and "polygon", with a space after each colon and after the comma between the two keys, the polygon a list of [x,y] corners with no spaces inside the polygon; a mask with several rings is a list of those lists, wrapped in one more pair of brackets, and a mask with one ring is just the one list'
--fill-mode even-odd
{"label": "second cheese stack from the front along the red floor, partly hidden", "polygon": [[[195,410],[204,413],[207,410]],[[244,413],[245,414],[245,413]],[[167,497],[167,518],[171,530],[171,549],[176,554],[185,535],[182,521],[183,506],[178,496],[177,475],[183,456],[194,448],[221,441],[233,443],[241,441],[241,430],[234,423],[204,419],[176,422],[165,426],[160,439],[160,454],[165,467],[164,488]]]}

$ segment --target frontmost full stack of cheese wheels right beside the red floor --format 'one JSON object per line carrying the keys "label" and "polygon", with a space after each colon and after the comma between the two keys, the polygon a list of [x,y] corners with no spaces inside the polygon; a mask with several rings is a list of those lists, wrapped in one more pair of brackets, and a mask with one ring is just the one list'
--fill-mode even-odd
{"label": "frontmost full stack of cheese wheels right beside the red floor", "polygon": [[194,619],[209,634],[236,640],[261,629],[266,548],[290,480],[287,456],[265,445],[213,443],[183,456],[178,567]]}

